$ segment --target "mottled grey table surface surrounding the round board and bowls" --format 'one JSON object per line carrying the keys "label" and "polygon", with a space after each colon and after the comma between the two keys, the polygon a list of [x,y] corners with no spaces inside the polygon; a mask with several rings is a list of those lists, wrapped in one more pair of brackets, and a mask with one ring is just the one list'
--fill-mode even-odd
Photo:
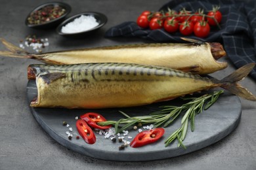
{"label": "mottled grey table surface surrounding the round board and bowls", "polygon": [[[85,39],[66,39],[54,29],[36,30],[26,27],[28,12],[47,1],[0,1],[0,37],[18,45],[27,35],[48,38],[46,51],[93,46],[150,42],[137,38],[104,38],[108,28],[137,19],[142,10],[158,10],[167,3],[158,1],[87,0],[65,1],[72,6],[69,16],[85,11],[106,14],[108,23],[95,35]],[[0,46],[0,50],[4,50]],[[211,76],[222,78],[235,70],[228,57],[228,68]],[[157,161],[104,161],[82,156],[58,144],[39,126],[30,112],[26,97],[27,73],[31,59],[0,57],[0,169],[256,169],[256,105],[242,103],[238,127],[218,143],[196,152]],[[247,77],[241,84],[256,94],[255,80]]]}

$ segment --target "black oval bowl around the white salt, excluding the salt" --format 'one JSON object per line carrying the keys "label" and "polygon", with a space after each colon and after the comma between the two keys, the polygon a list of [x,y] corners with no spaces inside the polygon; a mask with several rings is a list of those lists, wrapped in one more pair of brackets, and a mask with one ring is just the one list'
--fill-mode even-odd
{"label": "black oval bowl around the white salt, excluding the salt", "polygon": [[[77,32],[77,33],[63,33],[62,27],[70,22],[73,22],[76,18],[79,18],[80,16],[85,15],[85,16],[93,16],[96,19],[96,22],[98,22],[98,25],[96,27],[93,27],[91,29],[87,29],[86,31],[81,31],[81,32]],[[80,14],[76,14],[75,16],[71,16],[70,18],[64,20],[64,22],[62,22],[60,25],[58,25],[56,31],[59,35],[63,35],[66,37],[83,37],[86,35],[89,35],[91,33],[93,33],[94,31],[100,29],[100,27],[102,27],[103,25],[106,24],[106,22],[108,21],[107,17],[104,14],[101,14],[99,12],[83,12]]]}

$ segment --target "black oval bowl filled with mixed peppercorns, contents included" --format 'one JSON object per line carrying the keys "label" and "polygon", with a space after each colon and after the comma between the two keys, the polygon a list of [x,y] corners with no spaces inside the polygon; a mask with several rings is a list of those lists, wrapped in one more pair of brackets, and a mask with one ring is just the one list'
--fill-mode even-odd
{"label": "black oval bowl filled with mixed peppercorns, contents included", "polygon": [[49,2],[39,5],[26,17],[25,24],[33,28],[51,28],[60,24],[70,13],[71,7],[66,3]]}

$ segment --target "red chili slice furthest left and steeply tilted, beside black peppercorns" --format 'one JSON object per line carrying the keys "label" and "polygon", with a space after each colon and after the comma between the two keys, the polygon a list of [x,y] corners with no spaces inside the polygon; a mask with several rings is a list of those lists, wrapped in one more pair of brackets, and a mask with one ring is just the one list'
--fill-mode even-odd
{"label": "red chili slice furthest left and steeply tilted, beside black peppercorns", "polygon": [[76,127],[79,135],[83,137],[86,143],[94,144],[96,142],[95,133],[93,133],[93,130],[87,125],[85,120],[77,120]]}

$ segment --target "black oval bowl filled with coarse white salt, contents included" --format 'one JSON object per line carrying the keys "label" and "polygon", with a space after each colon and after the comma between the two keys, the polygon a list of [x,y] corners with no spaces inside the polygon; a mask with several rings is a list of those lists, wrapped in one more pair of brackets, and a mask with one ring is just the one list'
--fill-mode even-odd
{"label": "black oval bowl filled with coarse white salt, contents included", "polygon": [[100,29],[106,22],[107,18],[104,14],[83,12],[64,20],[58,25],[56,31],[59,35],[66,37],[81,37]]}

